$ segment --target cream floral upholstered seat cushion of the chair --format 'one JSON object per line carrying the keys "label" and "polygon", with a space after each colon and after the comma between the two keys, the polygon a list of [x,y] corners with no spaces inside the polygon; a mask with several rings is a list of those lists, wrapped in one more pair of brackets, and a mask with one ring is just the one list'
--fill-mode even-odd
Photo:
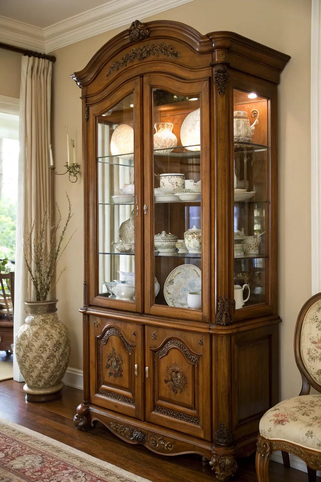
{"label": "cream floral upholstered seat cushion of the chair", "polygon": [[261,418],[260,434],[321,451],[321,395],[302,395],[278,403]]}

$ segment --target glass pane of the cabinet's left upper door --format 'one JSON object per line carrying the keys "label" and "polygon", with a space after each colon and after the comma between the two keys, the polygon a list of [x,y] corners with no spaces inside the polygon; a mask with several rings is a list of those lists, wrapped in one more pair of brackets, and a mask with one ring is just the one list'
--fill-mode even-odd
{"label": "glass pane of the cabinet's left upper door", "polygon": [[133,94],[98,117],[99,296],[135,299]]}

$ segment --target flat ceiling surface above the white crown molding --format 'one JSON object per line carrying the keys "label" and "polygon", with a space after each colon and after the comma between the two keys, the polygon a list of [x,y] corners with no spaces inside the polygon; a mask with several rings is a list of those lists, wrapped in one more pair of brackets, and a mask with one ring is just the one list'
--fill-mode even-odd
{"label": "flat ceiling surface above the white crown molding", "polygon": [[45,28],[105,3],[108,2],[106,0],[0,0],[0,15]]}

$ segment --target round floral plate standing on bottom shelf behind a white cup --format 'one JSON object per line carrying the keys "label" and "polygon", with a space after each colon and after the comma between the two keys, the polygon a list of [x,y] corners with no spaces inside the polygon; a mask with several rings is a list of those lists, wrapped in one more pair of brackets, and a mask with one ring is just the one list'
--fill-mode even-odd
{"label": "round floral plate standing on bottom shelf behind a white cup", "polygon": [[164,284],[164,296],[169,306],[188,308],[187,295],[201,291],[202,272],[194,265],[181,265],[173,269]]}

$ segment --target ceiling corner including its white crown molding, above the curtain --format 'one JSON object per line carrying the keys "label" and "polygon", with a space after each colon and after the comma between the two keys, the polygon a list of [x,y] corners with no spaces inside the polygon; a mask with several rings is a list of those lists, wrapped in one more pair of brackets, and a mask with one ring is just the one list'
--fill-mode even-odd
{"label": "ceiling corner including its white crown molding, above the curtain", "polygon": [[0,0],[0,42],[47,54],[191,1]]}

